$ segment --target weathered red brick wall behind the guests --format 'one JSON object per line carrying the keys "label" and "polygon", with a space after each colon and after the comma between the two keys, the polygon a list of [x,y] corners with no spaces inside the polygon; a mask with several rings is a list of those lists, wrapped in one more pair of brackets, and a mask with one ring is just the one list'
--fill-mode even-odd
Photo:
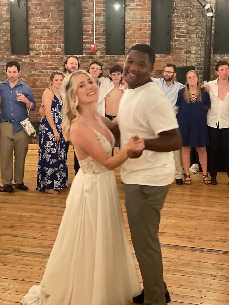
{"label": "weathered red brick wall behind the guests", "polygon": [[[208,1],[215,9],[215,0]],[[127,1],[127,3],[129,3]],[[52,70],[62,69],[64,55],[63,2],[60,0],[28,1],[29,55],[10,55],[9,0],[1,0],[0,15],[0,77],[6,78],[5,64],[15,59],[22,66],[21,78],[31,86],[37,101],[41,102]],[[132,0],[126,9],[126,51],[135,43],[150,42],[151,0]],[[194,65],[203,75],[206,14],[195,0],[173,0],[171,21],[171,54],[157,55],[155,74],[161,75],[163,66],[173,62],[177,66]],[[214,24],[213,24],[214,29]],[[104,74],[116,63],[123,64],[125,56],[105,55],[105,1],[96,1],[96,42],[98,51],[90,52],[93,43],[93,0],[83,0],[83,55],[79,56],[82,68],[97,59],[104,64]],[[213,37],[213,36],[212,36]],[[213,45],[213,39],[212,39]],[[77,55],[77,54],[76,54]],[[211,57],[211,78],[215,77],[214,64],[219,57]],[[32,121],[39,121],[37,112]]]}

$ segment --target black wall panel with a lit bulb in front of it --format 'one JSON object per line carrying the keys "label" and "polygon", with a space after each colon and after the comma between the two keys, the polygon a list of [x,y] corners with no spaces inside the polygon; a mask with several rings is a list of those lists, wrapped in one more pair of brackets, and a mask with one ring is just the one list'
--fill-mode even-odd
{"label": "black wall panel with a lit bulb in front of it", "polygon": [[106,55],[125,54],[125,1],[106,0]]}

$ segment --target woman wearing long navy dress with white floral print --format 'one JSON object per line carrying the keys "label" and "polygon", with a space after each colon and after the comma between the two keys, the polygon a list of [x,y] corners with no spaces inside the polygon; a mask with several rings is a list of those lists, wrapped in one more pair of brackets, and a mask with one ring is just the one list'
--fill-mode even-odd
{"label": "woman wearing long navy dress with white floral print", "polygon": [[58,194],[68,186],[68,169],[62,123],[63,101],[59,93],[63,74],[52,72],[50,88],[42,96],[45,116],[40,123],[37,190]]}

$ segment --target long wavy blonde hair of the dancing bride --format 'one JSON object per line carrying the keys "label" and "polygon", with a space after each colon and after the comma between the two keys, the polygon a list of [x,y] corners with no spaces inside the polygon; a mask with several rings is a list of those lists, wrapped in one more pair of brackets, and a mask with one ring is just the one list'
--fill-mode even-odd
{"label": "long wavy blonde hair of the dancing bride", "polygon": [[63,98],[63,108],[62,108],[62,133],[66,141],[70,140],[70,127],[72,121],[77,119],[80,114],[78,112],[78,96],[76,94],[76,89],[78,86],[78,76],[80,74],[85,74],[93,82],[93,77],[84,70],[78,70],[66,76],[63,81],[61,95]]}

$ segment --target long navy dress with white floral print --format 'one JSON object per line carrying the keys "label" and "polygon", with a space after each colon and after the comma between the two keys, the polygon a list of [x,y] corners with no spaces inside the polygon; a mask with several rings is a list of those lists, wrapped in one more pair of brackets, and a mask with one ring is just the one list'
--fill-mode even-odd
{"label": "long navy dress with white floral print", "polygon": [[[65,151],[66,142],[61,130],[62,105],[62,99],[58,100],[54,94],[51,114],[56,125],[56,129],[60,134],[60,140],[58,143],[55,141],[53,131],[45,116],[42,117],[40,122],[36,188],[38,191],[51,188],[61,190],[62,188],[68,186],[68,169]],[[44,107],[43,103],[42,107]]]}

